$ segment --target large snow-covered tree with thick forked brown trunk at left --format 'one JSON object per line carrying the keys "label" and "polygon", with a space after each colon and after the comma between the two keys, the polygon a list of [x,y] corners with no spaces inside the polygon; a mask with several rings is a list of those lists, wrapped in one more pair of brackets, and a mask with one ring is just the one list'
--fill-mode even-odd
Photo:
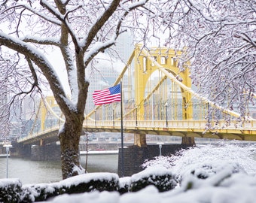
{"label": "large snow-covered tree with thick forked brown trunk at left", "polygon": [[[148,1],[2,1],[0,8],[0,46],[2,62],[13,58],[8,68],[17,71],[17,95],[41,92],[44,76],[66,121],[59,130],[62,178],[81,171],[79,139],[84,122],[89,81],[88,65],[99,53],[111,47],[126,29],[144,29],[139,16],[149,12]],[[139,25],[140,24],[140,25]],[[14,50],[14,51],[11,51]],[[56,74],[49,56],[59,51],[56,58],[66,68],[69,90]],[[23,70],[25,69],[25,71]],[[11,70],[11,69],[9,69]],[[19,74],[22,75],[19,75]],[[69,99],[68,93],[72,95]]]}

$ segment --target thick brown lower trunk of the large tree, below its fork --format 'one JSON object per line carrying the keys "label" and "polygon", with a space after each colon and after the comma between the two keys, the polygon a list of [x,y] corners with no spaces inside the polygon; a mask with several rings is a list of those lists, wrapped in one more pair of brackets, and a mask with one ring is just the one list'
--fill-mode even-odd
{"label": "thick brown lower trunk of the large tree, below its fork", "polygon": [[84,171],[79,161],[79,141],[83,122],[66,120],[59,132],[62,161],[62,179],[72,177]]}

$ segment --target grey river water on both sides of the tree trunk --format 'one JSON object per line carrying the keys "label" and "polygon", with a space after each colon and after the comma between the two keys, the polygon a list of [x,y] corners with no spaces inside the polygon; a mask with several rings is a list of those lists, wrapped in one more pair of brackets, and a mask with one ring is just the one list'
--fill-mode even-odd
{"label": "grey river water on both sides of the tree trunk", "polygon": [[[86,156],[81,156],[81,165],[85,168]],[[118,155],[88,156],[88,172],[117,173]],[[0,178],[7,176],[7,159],[0,158]],[[23,184],[52,183],[62,180],[60,161],[31,161],[29,159],[8,158],[8,177],[19,178]]]}

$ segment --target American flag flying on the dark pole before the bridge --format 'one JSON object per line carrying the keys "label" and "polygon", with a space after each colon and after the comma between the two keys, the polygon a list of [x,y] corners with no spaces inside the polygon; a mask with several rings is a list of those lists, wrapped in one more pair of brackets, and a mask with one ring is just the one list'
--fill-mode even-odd
{"label": "American flag flying on the dark pole before the bridge", "polygon": [[95,105],[105,105],[112,102],[120,102],[120,84],[111,86],[108,89],[95,90],[93,92],[93,102]]}

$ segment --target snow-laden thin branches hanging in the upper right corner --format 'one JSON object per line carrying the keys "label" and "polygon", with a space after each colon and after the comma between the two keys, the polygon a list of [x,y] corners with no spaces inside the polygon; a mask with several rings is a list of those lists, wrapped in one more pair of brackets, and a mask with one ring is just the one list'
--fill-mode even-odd
{"label": "snow-laden thin branches hanging in the upper right corner", "polygon": [[186,47],[190,77],[201,95],[231,110],[241,119],[255,104],[256,2],[254,0],[166,1],[162,25],[165,45]]}

